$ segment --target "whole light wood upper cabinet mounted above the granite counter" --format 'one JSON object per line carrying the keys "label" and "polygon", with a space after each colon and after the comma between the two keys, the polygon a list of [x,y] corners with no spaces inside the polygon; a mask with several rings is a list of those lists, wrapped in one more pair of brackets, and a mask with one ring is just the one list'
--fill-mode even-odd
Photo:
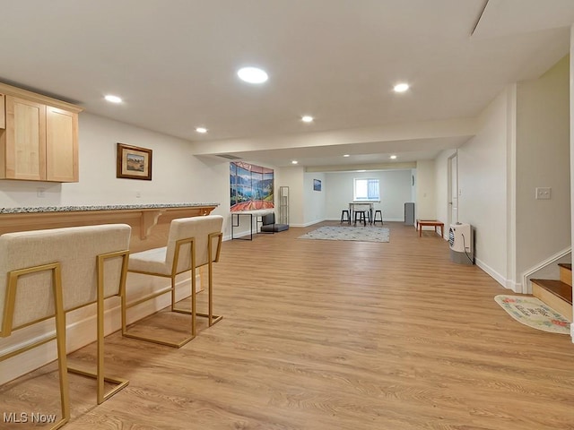
{"label": "whole light wood upper cabinet mounted above the granite counter", "polygon": [[[4,84],[0,84],[0,90],[4,90]],[[81,109],[29,91],[18,91],[22,92],[4,91],[0,178],[78,182],[78,113]]]}

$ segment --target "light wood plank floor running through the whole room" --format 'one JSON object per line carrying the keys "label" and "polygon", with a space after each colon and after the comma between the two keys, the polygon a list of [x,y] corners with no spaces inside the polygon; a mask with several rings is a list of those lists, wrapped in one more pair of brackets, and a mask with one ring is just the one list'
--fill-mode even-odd
{"label": "light wood plank floor running through the whole room", "polygon": [[[180,349],[109,336],[110,373],[130,384],[96,406],[70,374],[65,429],[574,429],[570,336],[510,318],[493,297],[512,293],[434,232],[297,238],[317,227],[225,242],[222,322]],[[0,387],[0,414],[57,411],[50,366]]]}

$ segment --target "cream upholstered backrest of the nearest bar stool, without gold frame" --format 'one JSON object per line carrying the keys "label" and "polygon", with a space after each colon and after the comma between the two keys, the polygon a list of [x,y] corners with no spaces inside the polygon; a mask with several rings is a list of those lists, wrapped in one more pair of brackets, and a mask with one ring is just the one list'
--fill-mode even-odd
{"label": "cream upholstered backrest of the nearest bar stool, without gold frame", "polygon": [[[100,254],[126,251],[131,228],[126,224],[51,228],[6,233],[0,236],[0,312],[4,316],[8,273],[59,262],[64,309],[68,311],[96,301]],[[121,257],[104,262],[104,296],[119,294]],[[54,314],[50,273],[41,271],[19,278],[13,328]],[[3,318],[4,319],[4,318]]]}

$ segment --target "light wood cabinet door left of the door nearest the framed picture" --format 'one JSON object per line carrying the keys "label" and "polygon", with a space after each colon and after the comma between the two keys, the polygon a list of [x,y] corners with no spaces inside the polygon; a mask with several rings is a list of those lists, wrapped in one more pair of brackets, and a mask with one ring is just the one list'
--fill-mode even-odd
{"label": "light wood cabinet door left of the door nearest the framed picture", "polygon": [[46,180],[46,105],[6,96],[5,177]]}

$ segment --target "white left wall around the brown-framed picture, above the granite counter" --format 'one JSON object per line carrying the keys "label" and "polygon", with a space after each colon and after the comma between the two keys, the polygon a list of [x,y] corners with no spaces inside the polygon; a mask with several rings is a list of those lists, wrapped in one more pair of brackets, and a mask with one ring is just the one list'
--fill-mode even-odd
{"label": "white left wall around the brown-framed picture, above the granite counter", "polygon": [[[79,131],[79,182],[0,181],[0,206],[219,202],[214,213],[229,209],[229,164],[205,164],[190,142],[88,113],[79,116]],[[116,177],[117,142],[153,150],[152,181]]]}

